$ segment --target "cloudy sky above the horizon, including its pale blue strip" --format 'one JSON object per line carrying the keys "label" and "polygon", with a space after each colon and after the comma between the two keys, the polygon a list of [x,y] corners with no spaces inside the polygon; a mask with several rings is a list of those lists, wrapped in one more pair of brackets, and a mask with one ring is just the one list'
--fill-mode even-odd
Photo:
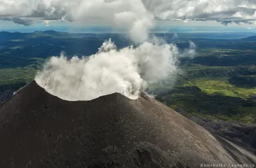
{"label": "cloudy sky above the horizon, including its pale blue strip", "polygon": [[[0,31],[254,31],[256,0],[0,0]],[[99,30],[100,28],[100,30]]]}

